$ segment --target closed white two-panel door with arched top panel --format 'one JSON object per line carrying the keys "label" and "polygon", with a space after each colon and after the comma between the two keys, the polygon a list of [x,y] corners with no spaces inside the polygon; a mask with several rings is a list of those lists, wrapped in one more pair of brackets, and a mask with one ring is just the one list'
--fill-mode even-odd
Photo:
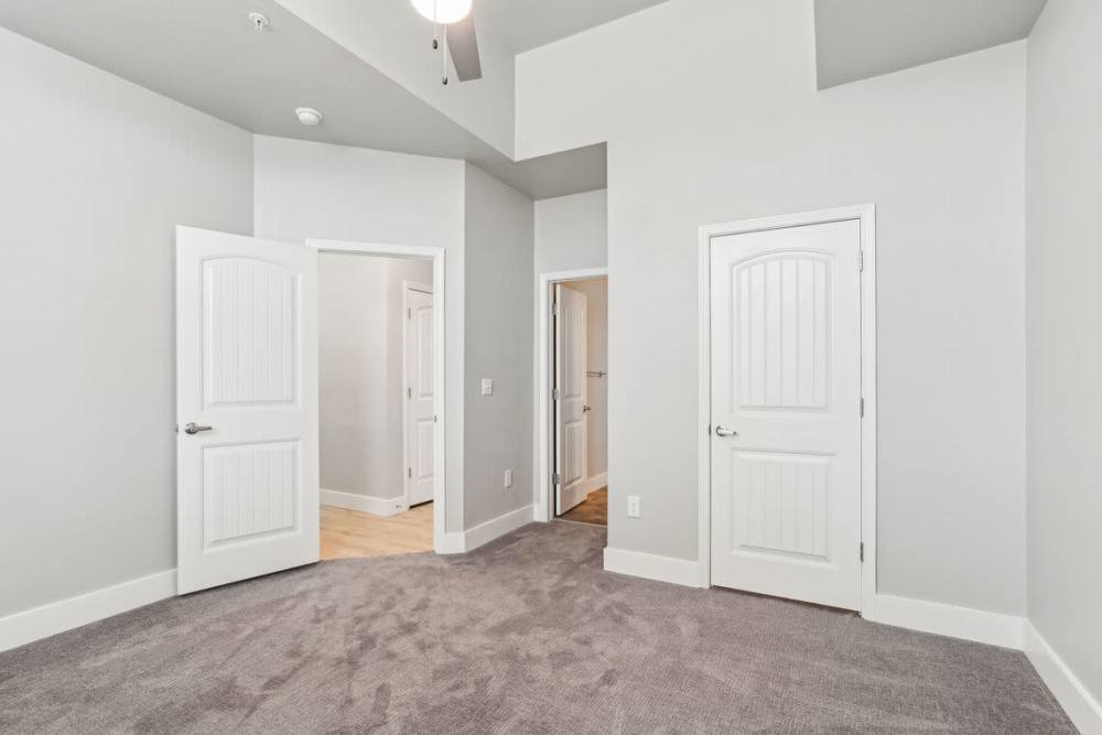
{"label": "closed white two-panel door with arched top panel", "polygon": [[712,239],[712,582],[857,609],[858,220]]}

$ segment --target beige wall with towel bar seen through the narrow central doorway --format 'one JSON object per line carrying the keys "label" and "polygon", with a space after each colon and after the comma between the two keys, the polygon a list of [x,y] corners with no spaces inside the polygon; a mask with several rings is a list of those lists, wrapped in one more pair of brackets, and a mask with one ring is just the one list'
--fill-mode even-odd
{"label": "beige wall with towel bar seen through the narrow central doorway", "polygon": [[[570,281],[568,288],[586,296],[586,371],[608,371],[608,279]],[[611,377],[585,379],[585,403],[590,407],[585,455],[588,476],[608,472],[608,381]]]}

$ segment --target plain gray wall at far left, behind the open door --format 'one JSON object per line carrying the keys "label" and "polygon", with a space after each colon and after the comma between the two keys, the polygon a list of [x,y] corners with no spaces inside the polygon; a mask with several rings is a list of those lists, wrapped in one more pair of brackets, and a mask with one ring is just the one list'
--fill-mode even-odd
{"label": "plain gray wall at far left, behind the open door", "polygon": [[4,615],[175,566],[173,230],[249,234],[252,139],[4,30],[0,89]]}

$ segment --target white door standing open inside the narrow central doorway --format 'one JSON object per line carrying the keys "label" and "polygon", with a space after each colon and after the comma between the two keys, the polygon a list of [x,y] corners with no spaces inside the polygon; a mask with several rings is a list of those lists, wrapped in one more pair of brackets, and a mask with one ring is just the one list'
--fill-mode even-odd
{"label": "white door standing open inside the narrow central doorway", "polygon": [[555,514],[585,499],[586,296],[554,287]]}

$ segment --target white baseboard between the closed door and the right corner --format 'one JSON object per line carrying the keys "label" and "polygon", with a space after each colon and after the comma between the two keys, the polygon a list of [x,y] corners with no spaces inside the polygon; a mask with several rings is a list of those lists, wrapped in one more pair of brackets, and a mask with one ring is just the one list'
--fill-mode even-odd
{"label": "white baseboard between the closed door and the right corner", "polygon": [[865,605],[862,616],[873,623],[1019,650],[1025,625],[1025,618],[1015,615],[894,595],[876,595],[871,606]]}

